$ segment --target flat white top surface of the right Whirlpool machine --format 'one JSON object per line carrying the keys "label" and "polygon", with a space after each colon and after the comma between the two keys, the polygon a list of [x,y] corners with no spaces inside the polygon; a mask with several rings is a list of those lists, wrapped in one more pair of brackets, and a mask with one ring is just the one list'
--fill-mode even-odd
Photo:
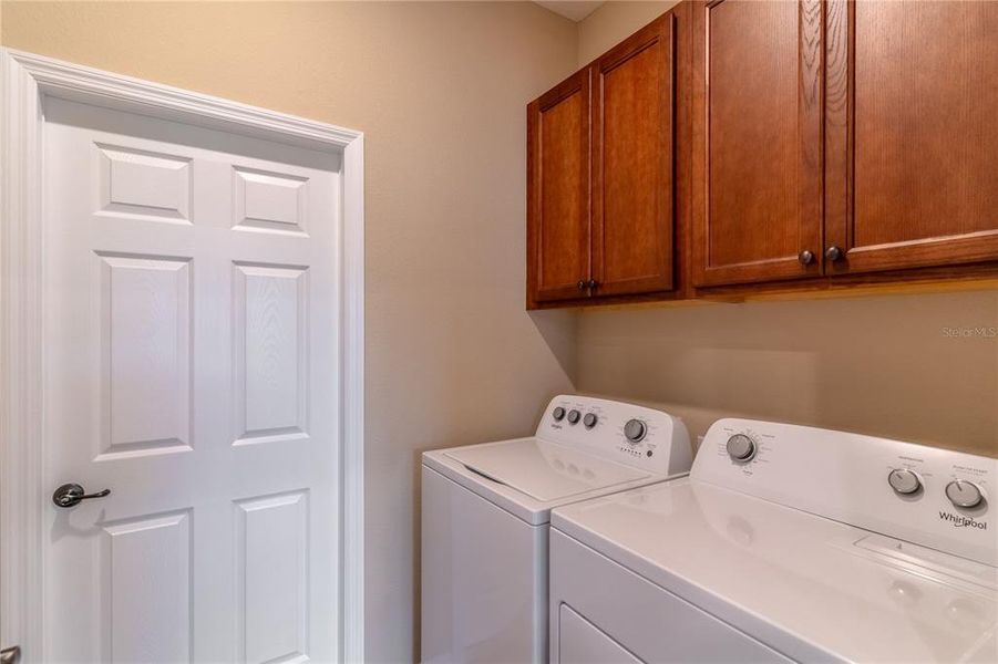
{"label": "flat white top surface of the right Whirlpool machine", "polygon": [[692,478],[551,523],[796,662],[998,662],[998,569],[981,562]]}

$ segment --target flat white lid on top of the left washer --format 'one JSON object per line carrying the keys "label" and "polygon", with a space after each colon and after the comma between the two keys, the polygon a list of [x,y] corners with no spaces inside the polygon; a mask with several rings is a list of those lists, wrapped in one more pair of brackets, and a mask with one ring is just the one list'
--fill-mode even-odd
{"label": "flat white lid on top of the left washer", "polygon": [[444,456],[542,502],[650,477],[637,468],[538,438],[460,447]]}

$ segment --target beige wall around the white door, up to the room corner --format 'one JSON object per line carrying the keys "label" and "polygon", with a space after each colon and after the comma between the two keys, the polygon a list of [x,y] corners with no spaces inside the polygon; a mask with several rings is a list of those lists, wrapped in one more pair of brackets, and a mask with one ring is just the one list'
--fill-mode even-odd
{"label": "beige wall around the white door, up to the room corner", "polygon": [[517,436],[572,390],[524,311],[525,104],[576,65],[528,3],[4,3],[7,46],[367,134],[367,645],[415,657],[418,457]]}

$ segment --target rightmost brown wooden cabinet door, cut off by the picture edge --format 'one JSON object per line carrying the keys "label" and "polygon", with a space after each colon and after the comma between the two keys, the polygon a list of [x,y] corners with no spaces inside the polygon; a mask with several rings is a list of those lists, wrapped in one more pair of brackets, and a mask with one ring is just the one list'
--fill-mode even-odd
{"label": "rightmost brown wooden cabinet door, cut off by the picture edge", "polygon": [[830,271],[998,259],[998,2],[831,0],[827,21]]}

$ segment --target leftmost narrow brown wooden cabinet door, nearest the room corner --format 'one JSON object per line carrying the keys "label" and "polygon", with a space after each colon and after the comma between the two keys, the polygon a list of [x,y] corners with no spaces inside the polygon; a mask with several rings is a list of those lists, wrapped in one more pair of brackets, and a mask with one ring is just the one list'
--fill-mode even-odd
{"label": "leftmost narrow brown wooden cabinet door, nearest the room corner", "polygon": [[527,242],[528,307],[588,294],[588,70],[527,106]]}

